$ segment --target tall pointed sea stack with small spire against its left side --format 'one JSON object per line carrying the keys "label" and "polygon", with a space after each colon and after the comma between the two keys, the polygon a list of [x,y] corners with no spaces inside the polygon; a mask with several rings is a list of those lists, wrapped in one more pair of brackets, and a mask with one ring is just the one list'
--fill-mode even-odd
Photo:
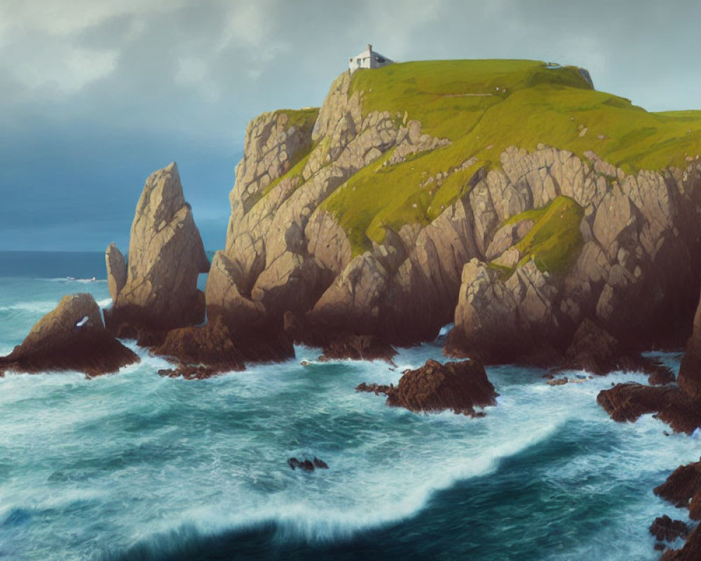
{"label": "tall pointed sea stack with small spire against its left side", "polygon": [[130,232],[126,278],[116,245],[107,248],[105,260],[114,302],[105,311],[111,332],[137,337],[139,328],[163,332],[203,322],[205,300],[197,277],[209,270],[209,261],[175,162],[144,185]]}

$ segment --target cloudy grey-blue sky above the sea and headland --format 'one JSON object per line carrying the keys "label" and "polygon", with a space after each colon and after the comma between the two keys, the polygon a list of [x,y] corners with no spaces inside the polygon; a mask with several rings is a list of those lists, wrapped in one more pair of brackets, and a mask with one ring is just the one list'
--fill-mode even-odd
{"label": "cloudy grey-blue sky above the sea and headland", "polygon": [[247,121],[320,104],[366,43],[580,65],[648,110],[701,109],[699,22],[698,0],[0,0],[0,250],[126,250],[173,160],[221,248]]}

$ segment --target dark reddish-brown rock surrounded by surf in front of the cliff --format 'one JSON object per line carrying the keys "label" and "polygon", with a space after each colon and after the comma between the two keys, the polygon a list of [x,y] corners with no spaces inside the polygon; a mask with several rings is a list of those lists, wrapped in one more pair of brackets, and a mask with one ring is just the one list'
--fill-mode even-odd
{"label": "dark reddish-brown rock surrounded by surf in front of the cliff", "polygon": [[387,405],[413,412],[440,412],[479,415],[475,407],[496,405],[498,394],[475,360],[441,364],[428,360],[416,370],[407,370],[395,386],[360,384],[356,391],[385,393]]}

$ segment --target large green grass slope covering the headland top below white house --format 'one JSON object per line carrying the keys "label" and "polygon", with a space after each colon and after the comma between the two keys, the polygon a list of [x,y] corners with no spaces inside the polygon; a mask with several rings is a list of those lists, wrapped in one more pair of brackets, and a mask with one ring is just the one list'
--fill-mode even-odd
{"label": "large green grass slope covering the headland top below white house", "polygon": [[[355,72],[355,91],[362,92],[364,114],[406,112],[421,121],[423,133],[452,142],[397,165],[382,167],[381,158],[322,203],[346,229],[355,254],[371,240],[381,242],[388,227],[428,224],[469,191],[479,168],[499,168],[499,156],[512,145],[532,151],[542,142],[579,156],[593,150],[627,173],[684,167],[687,154],[701,152],[701,111],[650,113],[592,90],[576,67],[547,69],[533,60],[406,62]],[[468,170],[421,187],[471,157],[477,162]]]}

